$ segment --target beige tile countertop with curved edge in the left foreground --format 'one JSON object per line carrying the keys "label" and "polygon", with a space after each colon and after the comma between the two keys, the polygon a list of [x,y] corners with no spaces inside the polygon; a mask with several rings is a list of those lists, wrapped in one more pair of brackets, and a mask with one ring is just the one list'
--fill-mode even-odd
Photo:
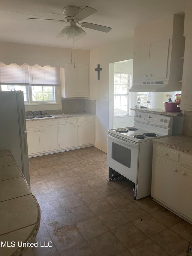
{"label": "beige tile countertop with curved edge in the left foreground", "polygon": [[0,255],[20,256],[28,247],[21,242],[32,242],[40,225],[40,206],[17,166],[10,151],[0,151]]}

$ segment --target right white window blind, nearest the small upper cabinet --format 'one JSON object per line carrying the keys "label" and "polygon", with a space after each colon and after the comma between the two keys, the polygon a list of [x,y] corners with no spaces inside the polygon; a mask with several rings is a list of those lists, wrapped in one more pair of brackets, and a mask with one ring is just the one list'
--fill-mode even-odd
{"label": "right white window blind, nearest the small upper cabinet", "polygon": [[31,86],[59,86],[59,68],[45,65],[29,66],[29,77]]}

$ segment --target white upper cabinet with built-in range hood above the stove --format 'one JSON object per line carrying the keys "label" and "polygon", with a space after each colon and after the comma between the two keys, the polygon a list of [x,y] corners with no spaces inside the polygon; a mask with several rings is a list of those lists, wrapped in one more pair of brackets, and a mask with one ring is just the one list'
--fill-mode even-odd
{"label": "white upper cabinet with built-in range hood above the stove", "polygon": [[172,15],[134,30],[133,86],[130,92],[180,91],[184,18]]}

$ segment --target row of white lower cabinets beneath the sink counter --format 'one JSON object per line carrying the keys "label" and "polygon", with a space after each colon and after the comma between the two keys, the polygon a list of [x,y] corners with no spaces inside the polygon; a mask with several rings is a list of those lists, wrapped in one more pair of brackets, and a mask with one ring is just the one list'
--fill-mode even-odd
{"label": "row of white lower cabinets beneath the sink counter", "polygon": [[50,154],[67,149],[93,145],[94,117],[28,121],[29,156]]}

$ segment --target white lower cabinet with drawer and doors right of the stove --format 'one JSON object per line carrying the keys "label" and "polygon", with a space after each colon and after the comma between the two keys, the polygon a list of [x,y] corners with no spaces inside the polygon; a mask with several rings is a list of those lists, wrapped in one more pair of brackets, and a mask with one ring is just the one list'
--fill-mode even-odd
{"label": "white lower cabinet with drawer and doors right of the stove", "polygon": [[[189,222],[192,222],[192,168],[185,168],[182,157],[189,154],[170,149],[170,159],[159,155],[167,147],[154,145],[151,196]],[[164,151],[164,152],[165,152]],[[166,157],[169,156],[165,153]],[[173,161],[173,154],[179,154],[179,161]],[[192,155],[189,155],[192,161]]]}

